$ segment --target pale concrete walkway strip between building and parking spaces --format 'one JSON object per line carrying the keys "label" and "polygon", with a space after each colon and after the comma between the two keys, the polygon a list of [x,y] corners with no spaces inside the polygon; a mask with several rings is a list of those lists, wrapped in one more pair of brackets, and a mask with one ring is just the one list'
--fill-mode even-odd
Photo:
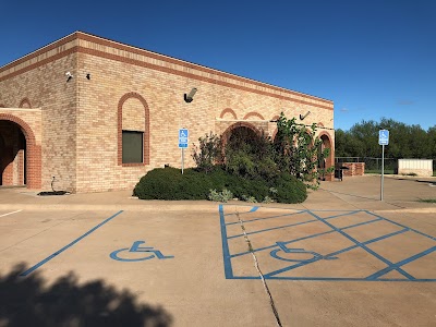
{"label": "pale concrete walkway strip between building and parking spaces", "polygon": [[[0,208],[27,209],[117,209],[130,210],[180,210],[216,209],[216,203],[209,201],[140,201],[132,191],[104,193],[69,194],[58,196],[38,196],[40,191],[24,187],[0,187]],[[436,204],[421,203],[420,198],[436,198],[436,178],[385,177],[384,202],[380,201],[380,177],[364,175],[344,178],[342,182],[322,182],[317,191],[308,191],[303,204],[256,204],[279,208],[359,208],[366,210],[404,210],[435,213]],[[231,202],[244,204],[243,202]],[[249,204],[250,205],[250,204]]]}

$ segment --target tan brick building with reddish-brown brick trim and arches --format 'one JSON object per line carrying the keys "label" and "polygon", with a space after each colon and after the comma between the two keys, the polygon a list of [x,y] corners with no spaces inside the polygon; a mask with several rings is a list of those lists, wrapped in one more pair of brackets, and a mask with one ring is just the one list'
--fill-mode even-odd
{"label": "tan brick building with reddish-brown brick trim and arches", "polygon": [[0,68],[0,184],[132,189],[150,169],[181,166],[179,129],[191,143],[235,129],[274,136],[281,111],[310,111],[298,120],[335,144],[330,100],[76,32]]}

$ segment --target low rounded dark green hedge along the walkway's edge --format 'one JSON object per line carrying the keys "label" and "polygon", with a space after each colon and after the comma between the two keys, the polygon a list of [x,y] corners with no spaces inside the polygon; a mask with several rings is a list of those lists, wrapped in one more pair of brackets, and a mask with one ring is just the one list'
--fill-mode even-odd
{"label": "low rounded dark green hedge along the walkway's edge", "polygon": [[[149,171],[136,184],[133,195],[142,199],[207,199],[211,190],[214,199],[225,201],[221,195],[230,193],[252,202],[301,203],[307,197],[306,186],[290,174],[282,173],[275,179],[244,179],[215,166],[208,173],[194,168],[181,173],[177,168],[157,168]],[[228,196],[227,196],[228,197]]]}

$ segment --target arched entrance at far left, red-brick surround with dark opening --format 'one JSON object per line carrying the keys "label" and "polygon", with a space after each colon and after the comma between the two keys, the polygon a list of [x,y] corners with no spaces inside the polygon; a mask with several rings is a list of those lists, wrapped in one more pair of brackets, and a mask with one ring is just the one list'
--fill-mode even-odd
{"label": "arched entrance at far left, red-brick surround with dark opening", "polygon": [[22,119],[0,113],[0,185],[40,189],[40,146]]}

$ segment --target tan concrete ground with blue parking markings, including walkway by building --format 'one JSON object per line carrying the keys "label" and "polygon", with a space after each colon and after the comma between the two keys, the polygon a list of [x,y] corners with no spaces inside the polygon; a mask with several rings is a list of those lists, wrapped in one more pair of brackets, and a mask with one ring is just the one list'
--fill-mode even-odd
{"label": "tan concrete ground with blue parking markings, including walkway by building", "polygon": [[404,182],[299,205],[0,190],[0,325],[434,326],[433,191]]}

